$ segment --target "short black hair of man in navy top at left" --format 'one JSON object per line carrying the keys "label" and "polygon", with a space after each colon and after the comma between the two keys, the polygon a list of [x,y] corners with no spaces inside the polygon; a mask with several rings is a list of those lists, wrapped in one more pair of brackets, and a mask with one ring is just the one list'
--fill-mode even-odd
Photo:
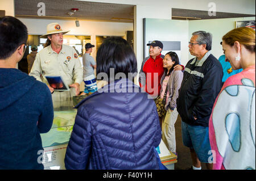
{"label": "short black hair of man in navy top at left", "polygon": [[10,57],[22,44],[27,43],[27,27],[13,16],[0,18],[0,59]]}

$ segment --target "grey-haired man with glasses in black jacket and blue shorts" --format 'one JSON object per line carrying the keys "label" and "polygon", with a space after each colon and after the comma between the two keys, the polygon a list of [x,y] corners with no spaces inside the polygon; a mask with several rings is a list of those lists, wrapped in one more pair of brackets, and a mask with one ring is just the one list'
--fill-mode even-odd
{"label": "grey-haired man with glasses in black jacket and blue shorts", "polygon": [[205,31],[192,33],[189,52],[195,58],[188,61],[184,69],[177,111],[181,116],[183,145],[191,151],[193,170],[201,169],[201,162],[212,169],[213,153],[209,142],[209,117],[221,90],[223,76],[220,62],[210,50],[212,35]]}

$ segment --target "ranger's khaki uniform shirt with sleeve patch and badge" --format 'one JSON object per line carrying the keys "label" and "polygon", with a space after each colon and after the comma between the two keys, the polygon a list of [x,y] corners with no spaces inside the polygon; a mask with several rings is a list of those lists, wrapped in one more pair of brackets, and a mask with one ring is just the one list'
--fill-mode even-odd
{"label": "ranger's khaki uniform shirt with sleeve patch and badge", "polygon": [[[38,81],[48,85],[46,76],[61,76],[67,86],[73,83],[82,82],[82,66],[76,50],[68,45],[62,45],[59,54],[52,50],[51,45],[40,50],[36,54],[35,62],[29,75]],[[70,100],[76,95],[74,87],[70,91],[54,91],[52,94],[53,103],[57,101]]]}

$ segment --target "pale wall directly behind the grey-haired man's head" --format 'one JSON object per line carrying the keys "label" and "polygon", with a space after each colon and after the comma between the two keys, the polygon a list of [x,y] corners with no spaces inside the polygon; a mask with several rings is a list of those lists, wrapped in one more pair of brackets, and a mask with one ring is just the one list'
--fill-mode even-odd
{"label": "pale wall directly behind the grey-haired man's head", "polygon": [[[205,20],[190,20],[188,23],[188,37],[191,39],[192,33],[195,31],[207,31],[212,33],[212,54],[218,58],[223,54],[222,46],[220,42],[222,41],[222,36],[224,36],[230,30],[236,28],[236,21],[241,20],[255,20],[255,17],[247,18],[225,18],[225,19],[205,19]],[[190,60],[193,56],[189,53]]]}

